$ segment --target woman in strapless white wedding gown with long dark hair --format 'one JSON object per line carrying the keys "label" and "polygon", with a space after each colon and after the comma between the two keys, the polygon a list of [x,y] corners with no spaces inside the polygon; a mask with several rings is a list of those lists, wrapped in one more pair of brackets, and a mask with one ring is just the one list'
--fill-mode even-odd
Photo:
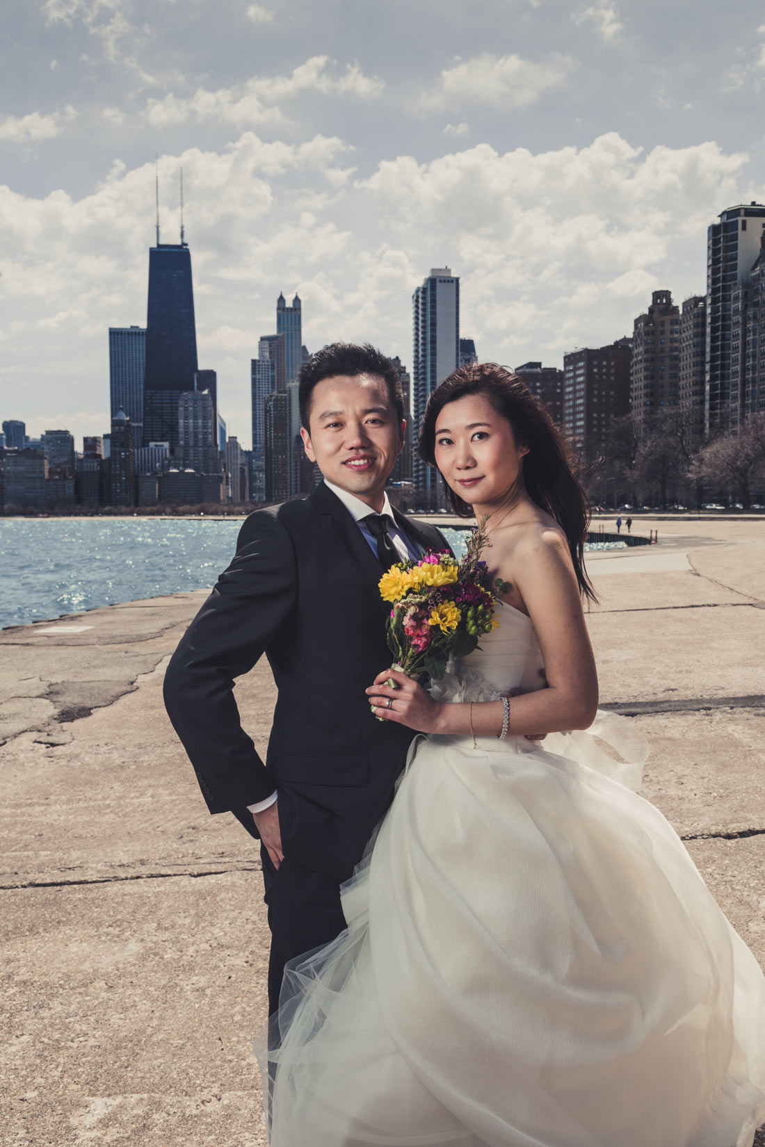
{"label": "woman in strapless white wedding gown with long dark hair", "polygon": [[389,669],[367,688],[424,735],[343,887],[348,930],[288,967],[271,1145],[750,1147],[765,980],[633,791],[640,735],[596,713],[562,440],[520,380],[471,365],[431,396],[420,453],[458,513],[489,515],[500,625],[429,692]]}

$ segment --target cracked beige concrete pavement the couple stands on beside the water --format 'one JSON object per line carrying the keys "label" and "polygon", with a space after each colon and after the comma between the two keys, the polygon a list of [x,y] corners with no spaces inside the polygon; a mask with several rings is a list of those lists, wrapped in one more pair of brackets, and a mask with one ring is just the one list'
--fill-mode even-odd
{"label": "cracked beige concrete pavement the couple stands on beside the water", "polygon": [[[588,569],[601,702],[649,738],[643,795],[765,967],[764,556],[759,521],[662,521]],[[257,846],[208,814],[162,705],[203,599],[0,633],[8,1147],[265,1147]],[[265,750],[265,662],[236,694]]]}

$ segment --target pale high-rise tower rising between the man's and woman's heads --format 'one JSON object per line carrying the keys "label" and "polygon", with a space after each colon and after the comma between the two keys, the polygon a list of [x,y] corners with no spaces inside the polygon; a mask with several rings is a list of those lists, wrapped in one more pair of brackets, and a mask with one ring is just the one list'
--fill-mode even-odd
{"label": "pale high-rise tower rising between the man's and woman's heads", "polygon": [[[460,361],[460,280],[450,267],[434,267],[413,297],[412,369],[414,432],[430,395]],[[445,505],[438,475],[414,459],[415,500],[428,509]]]}

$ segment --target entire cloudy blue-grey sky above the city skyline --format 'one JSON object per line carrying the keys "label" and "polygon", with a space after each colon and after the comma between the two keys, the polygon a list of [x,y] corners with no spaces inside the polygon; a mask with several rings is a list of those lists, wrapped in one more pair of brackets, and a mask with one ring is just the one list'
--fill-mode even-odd
{"label": "entire cloudy blue-grey sky above the city skyline", "polygon": [[155,156],[245,446],[280,291],[309,350],[411,367],[448,266],[479,359],[561,366],[703,294],[708,225],[765,202],[755,0],[3,0],[0,68],[0,419],[78,448],[146,325]]}

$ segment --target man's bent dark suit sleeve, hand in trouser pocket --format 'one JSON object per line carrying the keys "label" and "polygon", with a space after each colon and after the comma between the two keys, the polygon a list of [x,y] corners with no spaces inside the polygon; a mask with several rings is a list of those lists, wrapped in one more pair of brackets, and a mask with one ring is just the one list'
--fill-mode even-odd
{"label": "man's bent dark suit sleeve, hand in trouser pocket", "polygon": [[297,596],[295,552],[272,514],[252,514],[236,555],[218,578],[167,666],[167,715],[210,812],[265,801],[274,782],[242,728],[234,678],[249,672]]}

